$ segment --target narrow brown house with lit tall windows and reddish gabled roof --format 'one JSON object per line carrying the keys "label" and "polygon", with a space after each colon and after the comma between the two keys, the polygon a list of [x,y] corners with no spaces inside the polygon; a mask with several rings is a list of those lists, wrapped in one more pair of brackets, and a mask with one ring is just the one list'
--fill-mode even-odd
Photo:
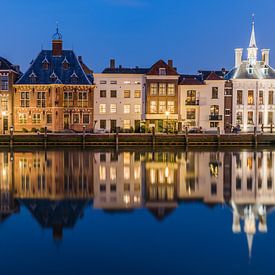
{"label": "narrow brown house with lit tall windows and reddish gabled roof", "polygon": [[146,129],[153,127],[157,132],[175,132],[178,130],[179,74],[168,63],[159,60],[146,74]]}

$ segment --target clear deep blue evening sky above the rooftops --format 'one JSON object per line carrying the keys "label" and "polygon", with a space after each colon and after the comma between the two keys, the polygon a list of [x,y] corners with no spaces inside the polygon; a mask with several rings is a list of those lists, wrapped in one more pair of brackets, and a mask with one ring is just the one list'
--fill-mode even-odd
{"label": "clear deep blue evening sky above the rooftops", "polygon": [[[0,0],[0,56],[26,71],[51,48],[56,22],[64,48],[95,72],[111,58],[125,67],[173,59],[180,73],[230,69],[247,48],[255,13],[258,47],[275,54],[274,0]],[[275,64],[275,62],[273,63]]]}

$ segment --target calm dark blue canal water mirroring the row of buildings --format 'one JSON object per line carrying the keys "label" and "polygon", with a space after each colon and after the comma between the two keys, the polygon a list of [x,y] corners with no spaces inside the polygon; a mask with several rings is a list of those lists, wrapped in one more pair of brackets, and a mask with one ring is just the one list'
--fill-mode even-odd
{"label": "calm dark blue canal water mirroring the row of buildings", "polygon": [[274,274],[275,150],[0,152],[1,274]]}

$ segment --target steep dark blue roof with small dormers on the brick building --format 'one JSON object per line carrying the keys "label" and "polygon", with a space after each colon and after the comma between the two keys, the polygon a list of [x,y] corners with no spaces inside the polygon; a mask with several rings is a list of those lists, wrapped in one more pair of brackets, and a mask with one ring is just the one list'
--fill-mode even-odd
{"label": "steep dark blue roof with small dormers on the brick building", "polygon": [[[63,61],[69,66],[64,68]],[[43,63],[48,63],[48,69],[43,68]],[[51,77],[53,73],[57,78]],[[35,81],[31,79],[34,76]],[[73,79],[72,76],[76,76]],[[71,50],[63,50],[61,56],[53,56],[51,50],[42,50],[38,57],[31,63],[27,72],[16,84],[76,84],[91,85],[93,79],[84,72],[78,58]]]}

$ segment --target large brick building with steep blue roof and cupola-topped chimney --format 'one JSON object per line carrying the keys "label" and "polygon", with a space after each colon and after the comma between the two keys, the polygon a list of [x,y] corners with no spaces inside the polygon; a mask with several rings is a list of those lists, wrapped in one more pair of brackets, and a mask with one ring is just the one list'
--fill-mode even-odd
{"label": "large brick building with steep blue roof and cupola-topped chimney", "polygon": [[62,43],[57,29],[52,49],[42,50],[14,85],[15,131],[94,127],[92,71]]}

